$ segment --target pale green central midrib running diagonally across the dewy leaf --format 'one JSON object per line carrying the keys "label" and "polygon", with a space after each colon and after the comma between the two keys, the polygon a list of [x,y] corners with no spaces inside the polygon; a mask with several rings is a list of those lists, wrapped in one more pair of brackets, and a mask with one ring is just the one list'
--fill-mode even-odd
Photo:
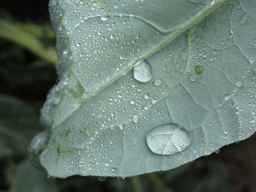
{"label": "pale green central midrib running diagonally across the dewy leaf", "polygon": [[122,69],[116,75],[111,77],[110,80],[106,81],[104,84],[99,86],[95,91],[92,91],[90,93],[90,95],[86,99],[83,99],[82,101],[80,101],[80,104],[78,104],[77,107],[73,108],[73,110],[71,112],[69,112],[69,114],[65,118],[63,118],[63,120],[59,121],[59,123],[54,124],[53,126],[54,127],[59,126],[61,123],[64,122],[64,120],[67,120],[67,118],[69,118],[69,116],[71,116],[76,110],[78,110],[82,104],[84,104],[86,101],[89,101],[94,96],[96,96],[99,92],[101,92],[102,90],[107,88],[109,85],[111,85],[113,82],[115,82],[116,80],[119,80],[121,77],[123,77],[125,74],[127,74],[127,72],[129,72],[135,66],[135,64],[138,63],[138,61],[142,61],[146,58],[149,58],[154,53],[157,53],[159,50],[162,49],[162,47],[165,47],[165,45],[172,42],[174,39],[176,39],[176,37],[183,34],[189,28],[191,28],[192,26],[195,26],[201,20],[206,18],[206,16],[208,16],[211,12],[213,12],[215,9],[217,9],[220,5],[225,3],[225,1],[227,1],[227,0],[216,0],[216,1],[213,0],[211,2],[211,4],[209,4],[204,9],[202,9],[202,11],[199,12],[194,18],[192,18],[191,20],[188,20],[186,23],[181,25],[179,28],[176,29],[176,31],[173,31],[173,33],[171,33],[165,39],[163,39],[161,42],[159,42],[159,44],[152,47],[151,50],[148,50],[148,52],[146,52],[143,55],[141,55],[140,57],[136,58],[135,61],[128,64],[126,68]]}

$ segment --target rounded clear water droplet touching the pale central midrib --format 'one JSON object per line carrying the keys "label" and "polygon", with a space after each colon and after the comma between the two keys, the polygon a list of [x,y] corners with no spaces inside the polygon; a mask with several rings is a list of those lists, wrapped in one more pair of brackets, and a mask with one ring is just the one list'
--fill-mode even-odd
{"label": "rounded clear water droplet touching the pale central midrib", "polygon": [[148,82],[152,78],[152,67],[146,60],[139,61],[133,69],[133,75],[135,80]]}

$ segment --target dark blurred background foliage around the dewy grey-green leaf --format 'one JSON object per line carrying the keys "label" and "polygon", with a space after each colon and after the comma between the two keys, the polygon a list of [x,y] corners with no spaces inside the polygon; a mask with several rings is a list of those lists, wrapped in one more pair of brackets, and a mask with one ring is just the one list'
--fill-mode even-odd
{"label": "dark blurred background foliage around the dewy grey-green leaf", "polygon": [[48,0],[0,2],[0,192],[254,192],[256,137],[168,172],[130,178],[50,178],[27,147],[43,129],[39,110],[56,83]]}

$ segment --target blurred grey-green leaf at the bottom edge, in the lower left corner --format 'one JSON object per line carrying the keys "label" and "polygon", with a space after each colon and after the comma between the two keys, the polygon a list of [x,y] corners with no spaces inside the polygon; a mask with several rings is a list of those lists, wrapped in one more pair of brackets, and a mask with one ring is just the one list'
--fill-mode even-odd
{"label": "blurred grey-green leaf at the bottom edge, in the lower left corner", "polygon": [[58,191],[54,180],[47,179],[46,175],[31,166],[28,160],[18,164],[12,171],[12,183],[10,192],[53,192]]}

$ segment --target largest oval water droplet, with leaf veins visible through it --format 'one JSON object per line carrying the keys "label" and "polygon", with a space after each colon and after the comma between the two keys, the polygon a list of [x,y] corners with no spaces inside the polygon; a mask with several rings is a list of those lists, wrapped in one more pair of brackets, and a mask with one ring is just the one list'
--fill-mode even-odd
{"label": "largest oval water droplet, with leaf veins visible through it", "polygon": [[189,132],[176,123],[165,123],[148,132],[146,142],[149,149],[158,155],[173,155],[189,147]]}

